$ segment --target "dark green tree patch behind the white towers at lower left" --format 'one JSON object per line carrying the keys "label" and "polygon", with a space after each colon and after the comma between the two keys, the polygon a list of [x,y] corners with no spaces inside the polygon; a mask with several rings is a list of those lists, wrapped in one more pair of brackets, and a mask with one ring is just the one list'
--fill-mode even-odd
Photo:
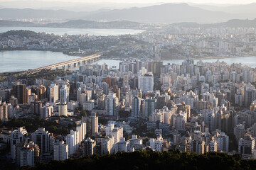
{"label": "dark green tree patch behind the white towers at lower left", "polygon": [[1,125],[1,127],[14,128],[14,127],[23,127],[25,126],[28,132],[34,132],[38,128],[46,128],[48,132],[53,133],[54,135],[67,135],[71,129],[75,130],[75,123],[69,124],[68,127],[60,125],[55,121],[44,120],[41,118],[14,118],[8,122]]}

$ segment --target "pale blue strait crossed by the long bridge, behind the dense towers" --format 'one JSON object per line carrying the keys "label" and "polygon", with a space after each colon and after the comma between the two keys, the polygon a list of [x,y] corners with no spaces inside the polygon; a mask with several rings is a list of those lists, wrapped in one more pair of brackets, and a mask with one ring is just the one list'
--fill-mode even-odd
{"label": "pale blue strait crossed by the long bridge, behind the dense towers", "polygon": [[[0,52],[0,72],[18,72],[28,69],[73,60],[75,56],[63,55],[62,52],[48,51],[6,51]],[[256,57],[234,57],[219,59],[228,64],[242,63],[250,67],[256,67]],[[195,63],[199,60],[195,60]],[[217,59],[202,60],[203,62],[216,62]],[[120,60],[100,60],[95,64],[107,64],[109,67],[119,68]],[[164,64],[181,64],[183,60],[164,60]]]}

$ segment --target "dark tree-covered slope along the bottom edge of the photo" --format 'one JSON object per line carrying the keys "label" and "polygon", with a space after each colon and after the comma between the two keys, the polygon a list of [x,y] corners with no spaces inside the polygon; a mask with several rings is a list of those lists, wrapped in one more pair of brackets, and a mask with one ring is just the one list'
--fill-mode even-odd
{"label": "dark tree-covered slope along the bottom edge of the photo", "polygon": [[65,161],[38,164],[35,168],[23,169],[256,169],[255,160],[241,160],[239,154],[209,152],[206,154],[139,151],[131,153],[106,154]]}

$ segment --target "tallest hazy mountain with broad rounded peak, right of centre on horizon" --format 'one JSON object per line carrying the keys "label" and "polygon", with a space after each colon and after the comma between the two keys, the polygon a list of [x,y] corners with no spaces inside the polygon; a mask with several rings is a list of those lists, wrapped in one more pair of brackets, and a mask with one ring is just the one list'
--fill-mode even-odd
{"label": "tallest hazy mountain with broad rounded peak, right of centre on horizon", "polygon": [[188,4],[162,4],[142,8],[127,8],[85,16],[90,20],[127,20],[149,23],[216,23],[234,18],[231,14],[208,11]]}

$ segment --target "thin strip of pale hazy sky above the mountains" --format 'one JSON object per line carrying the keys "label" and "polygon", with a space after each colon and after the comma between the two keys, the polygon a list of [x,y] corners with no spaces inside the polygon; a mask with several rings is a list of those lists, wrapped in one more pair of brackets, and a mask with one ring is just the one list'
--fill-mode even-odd
{"label": "thin strip of pale hazy sky above the mountains", "polygon": [[[17,0],[0,0],[0,1],[17,1]],[[23,0],[19,0],[23,1]],[[25,0],[26,1],[26,0]],[[250,4],[256,0],[33,0],[33,1],[70,1],[70,2],[85,2],[85,3],[98,3],[98,2],[115,2],[115,3],[213,3],[213,4]],[[0,4],[1,5],[1,4]]]}

